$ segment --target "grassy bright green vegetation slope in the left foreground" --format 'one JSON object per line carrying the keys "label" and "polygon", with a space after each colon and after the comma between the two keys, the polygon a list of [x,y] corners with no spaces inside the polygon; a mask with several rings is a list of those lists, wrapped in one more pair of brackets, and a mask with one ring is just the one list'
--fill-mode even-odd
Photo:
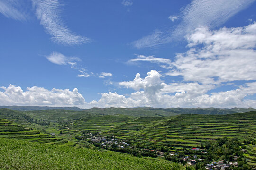
{"label": "grassy bright green vegetation slope in the left foreground", "polygon": [[0,138],[1,170],[184,170],[182,164],[114,152]]}

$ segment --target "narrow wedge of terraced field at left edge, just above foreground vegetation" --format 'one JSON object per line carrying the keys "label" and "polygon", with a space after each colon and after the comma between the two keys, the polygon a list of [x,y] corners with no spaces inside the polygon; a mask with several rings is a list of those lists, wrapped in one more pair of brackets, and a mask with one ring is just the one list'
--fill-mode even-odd
{"label": "narrow wedge of terraced field at left edge, just above foreground vegetation", "polygon": [[76,144],[63,138],[40,133],[30,127],[21,126],[6,119],[0,119],[0,137],[9,139],[23,139],[35,143],[75,146]]}

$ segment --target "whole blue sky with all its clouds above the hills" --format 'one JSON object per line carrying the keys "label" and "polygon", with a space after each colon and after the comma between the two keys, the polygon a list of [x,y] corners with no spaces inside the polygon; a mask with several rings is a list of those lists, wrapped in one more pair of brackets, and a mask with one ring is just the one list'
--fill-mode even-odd
{"label": "whole blue sky with all its clouds above the hills", "polygon": [[0,105],[256,108],[255,0],[0,0]]}

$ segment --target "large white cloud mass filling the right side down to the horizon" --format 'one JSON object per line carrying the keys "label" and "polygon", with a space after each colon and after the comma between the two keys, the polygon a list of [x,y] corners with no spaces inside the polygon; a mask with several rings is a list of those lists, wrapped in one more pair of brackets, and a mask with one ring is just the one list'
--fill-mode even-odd
{"label": "large white cloud mass filling the right side down to the horizon", "polygon": [[[137,73],[134,80],[119,83],[135,90],[127,98],[133,102],[128,106],[256,107],[256,100],[247,99],[256,94],[256,23],[215,31],[201,26],[186,39],[188,51],[176,54],[173,61],[143,55],[128,61],[157,63],[168,70],[164,75],[183,77],[166,84],[155,70],[145,78]],[[244,83],[235,88],[233,81]],[[209,94],[224,85],[233,89]]]}

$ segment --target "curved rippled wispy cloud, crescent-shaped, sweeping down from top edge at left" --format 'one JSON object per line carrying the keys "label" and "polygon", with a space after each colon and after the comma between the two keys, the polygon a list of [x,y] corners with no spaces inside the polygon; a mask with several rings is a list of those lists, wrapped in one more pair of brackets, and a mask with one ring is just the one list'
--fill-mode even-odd
{"label": "curved rippled wispy cloud, crescent-shaped, sweeping down from top edge at left", "polygon": [[90,42],[90,39],[71,32],[61,20],[60,7],[62,4],[58,0],[32,0],[36,9],[37,19],[52,36],[54,42],[65,45],[77,45]]}

